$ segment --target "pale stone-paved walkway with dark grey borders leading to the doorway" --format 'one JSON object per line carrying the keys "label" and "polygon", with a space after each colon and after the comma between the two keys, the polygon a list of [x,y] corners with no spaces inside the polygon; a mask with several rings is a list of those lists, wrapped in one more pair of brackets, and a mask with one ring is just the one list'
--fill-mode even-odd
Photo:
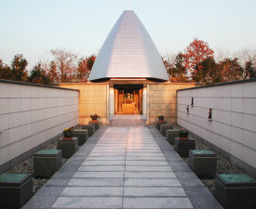
{"label": "pale stone-paved walkway with dark grey borders leading to the doorway", "polygon": [[102,126],[23,208],[222,208],[155,127],[138,120]]}

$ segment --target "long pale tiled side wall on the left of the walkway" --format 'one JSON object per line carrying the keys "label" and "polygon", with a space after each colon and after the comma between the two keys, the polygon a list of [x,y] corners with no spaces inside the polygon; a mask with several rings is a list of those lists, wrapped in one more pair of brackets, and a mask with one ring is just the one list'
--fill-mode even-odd
{"label": "long pale tiled side wall on the left of the walkway", "polygon": [[0,80],[0,172],[78,124],[76,90]]}

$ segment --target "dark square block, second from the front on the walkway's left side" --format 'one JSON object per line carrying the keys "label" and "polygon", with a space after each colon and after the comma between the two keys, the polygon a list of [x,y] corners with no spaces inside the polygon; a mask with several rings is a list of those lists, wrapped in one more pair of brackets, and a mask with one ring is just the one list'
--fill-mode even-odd
{"label": "dark square block, second from the front on the walkway's left side", "polygon": [[39,150],[34,153],[34,177],[50,178],[61,168],[61,150]]}

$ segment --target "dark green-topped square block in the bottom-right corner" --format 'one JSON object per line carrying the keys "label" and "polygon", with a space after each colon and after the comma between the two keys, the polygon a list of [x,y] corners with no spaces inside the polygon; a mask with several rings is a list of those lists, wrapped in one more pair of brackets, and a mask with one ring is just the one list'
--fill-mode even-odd
{"label": "dark green-topped square block in the bottom-right corner", "polygon": [[215,197],[225,209],[255,208],[256,180],[245,174],[217,174]]}

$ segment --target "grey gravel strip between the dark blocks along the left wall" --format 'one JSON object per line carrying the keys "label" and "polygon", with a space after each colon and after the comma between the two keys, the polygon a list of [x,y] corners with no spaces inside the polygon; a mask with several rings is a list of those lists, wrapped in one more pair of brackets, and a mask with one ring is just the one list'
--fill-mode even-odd
{"label": "grey gravel strip between the dark blocks along the left wall", "polygon": [[[47,145],[47,147],[43,150],[57,150],[58,143],[57,141],[52,142]],[[68,159],[62,158],[62,165],[66,163]],[[7,174],[32,174],[34,175],[34,162],[33,156],[23,161],[20,164],[17,164],[14,168],[7,172]],[[38,189],[40,189],[46,182],[47,178],[32,178],[33,181],[33,192],[35,193]]]}

